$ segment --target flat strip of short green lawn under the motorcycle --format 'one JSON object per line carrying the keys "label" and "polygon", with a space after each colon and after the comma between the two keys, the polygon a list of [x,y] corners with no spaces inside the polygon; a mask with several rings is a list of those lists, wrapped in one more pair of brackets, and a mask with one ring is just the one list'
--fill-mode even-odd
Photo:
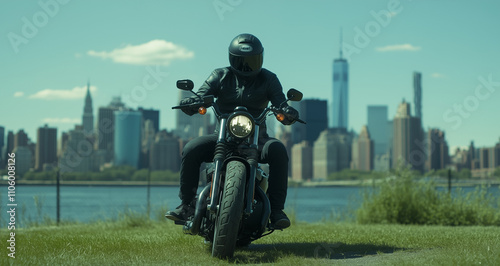
{"label": "flat strip of short green lawn under the motorcycle", "polygon": [[130,221],[17,229],[16,258],[2,248],[0,265],[500,265],[499,227],[298,223],[218,260],[180,226]]}

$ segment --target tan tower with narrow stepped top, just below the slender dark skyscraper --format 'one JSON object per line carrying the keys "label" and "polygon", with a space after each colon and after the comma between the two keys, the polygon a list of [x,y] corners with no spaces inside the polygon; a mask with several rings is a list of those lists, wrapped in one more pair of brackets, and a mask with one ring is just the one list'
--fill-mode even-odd
{"label": "tan tower with narrow stepped top, just below the slender dark skyscraper", "polygon": [[404,100],[394,117],[393,128],[392,166],[402,162],[423,171],[426,158],[420,118],[411,116],[410,104]]}

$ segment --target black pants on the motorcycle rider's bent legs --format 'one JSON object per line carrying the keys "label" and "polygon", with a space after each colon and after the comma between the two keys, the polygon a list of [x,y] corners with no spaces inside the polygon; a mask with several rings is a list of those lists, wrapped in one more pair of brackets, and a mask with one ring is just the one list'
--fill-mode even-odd
{"label": "black pants on the motorcycle rider's bent legs", "polygon": [[[183,203],[189,203],[196,195],[199,182],[200,166],[203,162],[212,162],[217,135],[201,136],[189,141],[182,151],[181,189],[179,197]],[[267,193],[271,209],[285,208],[288,186],[288,154],[285,145],[274,138],[259,139],[259,162],[269,164],[269,188]]]}

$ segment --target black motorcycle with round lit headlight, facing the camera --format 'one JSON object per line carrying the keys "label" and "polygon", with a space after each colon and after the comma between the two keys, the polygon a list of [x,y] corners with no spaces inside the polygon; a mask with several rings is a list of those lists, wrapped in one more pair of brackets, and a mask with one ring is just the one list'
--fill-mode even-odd
{"label": "black motorcycle with round lit headlight, facing the camera", "polygon": [[280,107],[288,101],[300,101],[302,93],[290,89],[285,102],[265,108],[255,118],[242,106],[232,113],[221,113],[213,96],[201,97],[193,87],[191,80],[177,81],[177,88],[191,91],[198,102],[172,109],[197,108],[205,114],[211,107],[219,121],[218,138],[213,163],[205,170],[207,185],[192,204],[194,212],[186,221],[175,223],[183,226],[184,233],[200,235],[211,243],[212,256],[231,258],[235,247],[247,246],[278,229],[269,221],[268,176],[258,163],[259,127],[268,115],[283,121],[286,117]]}

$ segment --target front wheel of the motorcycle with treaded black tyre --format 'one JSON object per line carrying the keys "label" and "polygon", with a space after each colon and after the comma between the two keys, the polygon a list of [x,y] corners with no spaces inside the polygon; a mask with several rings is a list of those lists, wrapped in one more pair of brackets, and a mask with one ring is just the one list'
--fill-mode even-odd
{"label": "front wheel of the motorcycle with treaded black tyre", "polygon": [[226,181],[215,222],[212,256],[231,258],[234,254],[245,196],[246,167],[242,162],[231,161],[226,167]]}

